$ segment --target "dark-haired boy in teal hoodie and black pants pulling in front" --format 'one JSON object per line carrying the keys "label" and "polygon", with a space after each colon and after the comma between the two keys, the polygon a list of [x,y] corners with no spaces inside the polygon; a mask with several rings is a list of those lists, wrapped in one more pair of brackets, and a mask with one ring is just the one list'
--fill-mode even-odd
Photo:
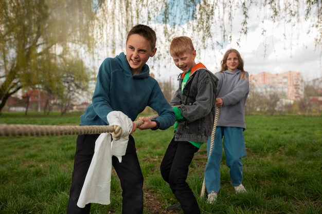
{"label": "dark-haired boy in teal hoodie and black pants pulling in front", "polygon": [[[167,129],[175,122],[175,114],[165,99],[158,83],[150,76],[146,62],[156,52],[154,30],[145,25],[134,26],[128,34],[126,54],[107,58],[101,64],[93,95],[93,103],[81,115],[80,125],[109,125],[107,115],[121,111],[132,121],[147,106],[158,113],[154,120],[140,117],[144,121],[140,129]],[[126,154],[120,163],[112,157],[112,164],[122,188],[122,213],[143,213],[143,175],[136,154],[132,133],[129,135]],[[94,154],[95,141],[99,134],[79,135],[75,154],[74,171],[70,187],[67,214],[90,213],[91,204],[77,206],[87,170]]]}

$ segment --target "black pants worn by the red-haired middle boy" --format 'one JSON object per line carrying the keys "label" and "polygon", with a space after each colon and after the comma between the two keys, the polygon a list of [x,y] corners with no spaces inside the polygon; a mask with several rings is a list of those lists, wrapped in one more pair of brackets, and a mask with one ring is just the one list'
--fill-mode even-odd
{"label": "black pants worn by the red-haired middle boy", "polygon": [[187,141],[174,141],[173,138],[160,166],[163,179],[169,183],[185,214],[200,213],[198,202],[186,182],[189,165],[198,150]]}

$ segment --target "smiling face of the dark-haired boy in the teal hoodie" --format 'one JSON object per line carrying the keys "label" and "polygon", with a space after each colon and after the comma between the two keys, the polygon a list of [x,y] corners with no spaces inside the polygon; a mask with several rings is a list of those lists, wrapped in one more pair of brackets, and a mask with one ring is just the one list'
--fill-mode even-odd
{"label": "smiling face of the dark-haired boy in the teal hoodie", "polygon": [[127,44],[127,61],[132,69],[133,75],[139,74],[142,67],[149,60],[150,56],[154,56],[156,48],[152,49],[150,42],[139,34],[129,36]]}

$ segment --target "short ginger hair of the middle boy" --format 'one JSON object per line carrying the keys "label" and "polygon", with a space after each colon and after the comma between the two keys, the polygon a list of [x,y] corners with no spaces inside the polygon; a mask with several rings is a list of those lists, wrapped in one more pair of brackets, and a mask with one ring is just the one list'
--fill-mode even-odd
{"label": "short ginger hair of the middle boy", "polygon": [[188,36],[174,37],[170,45],[170,55],[178,56],[186,51],[194,51],[191,38]]}

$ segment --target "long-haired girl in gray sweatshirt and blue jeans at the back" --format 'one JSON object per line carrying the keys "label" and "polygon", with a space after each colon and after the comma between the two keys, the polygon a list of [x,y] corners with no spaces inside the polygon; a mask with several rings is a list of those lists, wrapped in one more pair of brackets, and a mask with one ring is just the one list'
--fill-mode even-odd
{"label": "long-haired girl in gray sweatshirt and blue jeans at the back", "polygon": [[207,142],[208,161],[205,169],[207,202],[217,200],[220,189],[220,164],[222,148],[229,167],[232,185],[237,193],[245,192],[242,185],[242,157],[246,156],[243,131],[246,129],[244,106],[249,93],[248,73],[244,71],[244,62],[236,49],[229,49],[221,61],[218,77],[216,108],[220,108],[213,146],[210,151],[211,137]]}

